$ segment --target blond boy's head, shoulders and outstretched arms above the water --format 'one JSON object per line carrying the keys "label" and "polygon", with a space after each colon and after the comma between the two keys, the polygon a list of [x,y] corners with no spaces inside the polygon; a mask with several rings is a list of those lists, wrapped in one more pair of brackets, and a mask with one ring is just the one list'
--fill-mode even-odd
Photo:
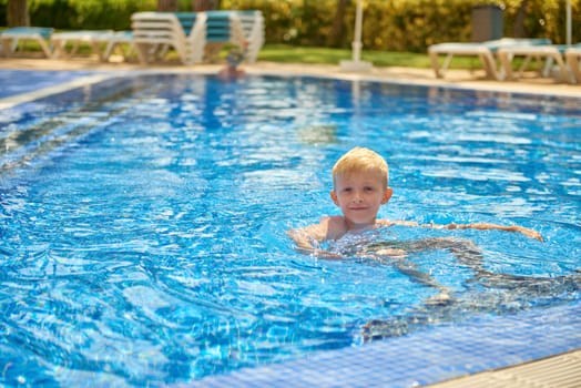
{"label": "blond boy's head, shoulders and outstretched arms above the water", "polygon": [[[288,231],[296,245],[308,252],[317,252],[319,243],[340,239],[348,233],[359,233],[381,226],[405,225],[447,229],[500,229],[519,232],[528,237],[542,241],[542,236],[521,226],[496,224],[424,224],[408,221],[377,219],[379,207],[391,198],[393,190],[388,186],[387,162],[369,149],[355,147],[344,154],[333,167],[333,190],[330,198],[343,215],[326,216],[318,224]],[[401,249],[383,249],[380,255],[398,256]],[[325,254],[323,252],[323,254]],[[328,256],[332,258],[332,256]]]}

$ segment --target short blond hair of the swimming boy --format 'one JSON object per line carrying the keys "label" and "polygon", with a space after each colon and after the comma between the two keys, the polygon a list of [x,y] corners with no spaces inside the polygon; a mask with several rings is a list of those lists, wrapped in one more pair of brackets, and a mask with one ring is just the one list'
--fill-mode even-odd
{"label": "short blond hair of the swimming boy", "polygon": [[337,176],[351,174],[354,172],[378,172],[384,178],[384,185],[387,187],[389,181],[389,167],[387,162],[378,153],[356,146],[344,154],[333,166],[333,184]]}

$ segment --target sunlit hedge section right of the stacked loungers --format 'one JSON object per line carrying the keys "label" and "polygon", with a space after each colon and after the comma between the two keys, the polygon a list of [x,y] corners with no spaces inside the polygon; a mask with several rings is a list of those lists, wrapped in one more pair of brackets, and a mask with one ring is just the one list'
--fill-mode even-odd
{"label": "sunlit hedge section right of the stacked loungers", "polygon": [[[425,52],[429,44],[470,41],[472,8],[502,8],[504,37],[513,37],[522,0],[365,0],[364,47],[371,50]],[[573,41],[581,42],[581,0],[573,6]],[[349,1],[339,47],[349,48],[355,24],[355,3]],[[223,0],[224,8],[261,9],[266,18],[267,41],[297,45],[332,45],[337,0]],[[530,38],[564,43],[565,0],[529,0],[524,22]]]}

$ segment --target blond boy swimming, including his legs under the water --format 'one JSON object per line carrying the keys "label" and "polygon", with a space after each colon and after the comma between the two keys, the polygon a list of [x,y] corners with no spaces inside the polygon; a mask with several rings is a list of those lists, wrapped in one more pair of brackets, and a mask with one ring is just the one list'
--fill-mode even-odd
{"label": "blond boy swimming, including his legs under the water", "polygon": [[[319,257],[340,259],[343,256],[318,249],[320,243],[338,241],[348,234],[357,234],[381,226],[404,225],[447,229],[500,229],[519,232],[528,237],[542,241],[542,236],[532,229],[521,226],[502,226],[496,224],[425,224],[416,222],[377,219],[379,207],[391,198],[393,190],[388,186],[388,166],[386,161],[371,150],[355,147],[343,155],[333,167],[333,190],[330,198],[343,215],[326,216],[318,224],[288,231],[296,245]],[[481,267],[482,255],[470,241],[462,238],[426,238],[410,242],[378,242],[361,247],[357,255],[369,257],[379,263],[391,264],[410,276],[414,282],[438,288],[440,293],[428,299],[428,304],[448,303],[450,289],[439,285],[429,274],[418,269],[407,261],[407,254],[430,249],[447,249],[460,264],[471,267],[477,276],[490,273]]]}

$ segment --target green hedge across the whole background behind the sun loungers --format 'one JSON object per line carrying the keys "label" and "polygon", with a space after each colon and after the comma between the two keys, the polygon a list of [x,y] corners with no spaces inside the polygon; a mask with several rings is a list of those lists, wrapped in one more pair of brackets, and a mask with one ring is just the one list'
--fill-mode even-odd
{"label": "green hedge across the whole background behind the sun loungers", "polygon": [[[365,0],[363,43],[366,49],[425,52],[442,41],[470,41],[471,10],[498,4],[503,9],[504,35],[513,37],[522,0]],[[6,4],[0,0],[0,23],[6,25]],[[156,0],[28,0],[31,23],[57,29],[130,28],[136,11],[156,9]],[[349,48],[353,40],[355,0],[348,1],[340,37],[333,21],[338,0],[222,0],[222,9],[259,9],[265,16],[268,43]],[[573,4],[573,41],[581,41],[581,0]],[[180,0],[191,11],[191,0]],[[529,0],[524,27],[530,38],[564,43],[565,0]],[[338,38],[338,39],[337,39]]]}

